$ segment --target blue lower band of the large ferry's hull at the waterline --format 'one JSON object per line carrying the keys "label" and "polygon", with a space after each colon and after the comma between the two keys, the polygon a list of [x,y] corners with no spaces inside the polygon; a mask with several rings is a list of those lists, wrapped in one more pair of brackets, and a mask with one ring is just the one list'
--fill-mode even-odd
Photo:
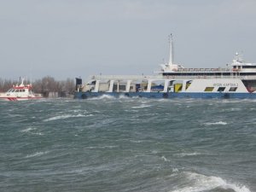
{"label": "blue lower band of the large ferry's hull at the waterline", "polygon": [[160,93],[160,92],[76,92],[75,99],[87,99],[96,96],[129,96],[129,97],[146,97],[146,98],[256,98],[255,93]]}

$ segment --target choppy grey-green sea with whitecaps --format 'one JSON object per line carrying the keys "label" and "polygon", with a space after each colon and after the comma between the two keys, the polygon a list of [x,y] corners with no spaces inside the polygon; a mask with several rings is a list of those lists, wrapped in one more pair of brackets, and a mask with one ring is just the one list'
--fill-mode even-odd
{"label": "choppy grey-green sea with whitecaps", "polygon": [[0,191],[256,191],[256,100],[0,102]]}

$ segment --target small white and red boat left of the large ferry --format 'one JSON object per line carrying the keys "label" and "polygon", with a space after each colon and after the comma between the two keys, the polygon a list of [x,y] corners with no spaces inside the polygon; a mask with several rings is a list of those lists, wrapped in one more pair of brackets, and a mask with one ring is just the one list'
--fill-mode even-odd
{"label": "small white and red boat left of the large ferry", "polygon": [[40,94],[32,92],[32,84],[24,84],[24,79],[21,80],[20,84],[13,85],[7,92],[0,94],[0,100],[5,101],[24,101],[42,98]]}

